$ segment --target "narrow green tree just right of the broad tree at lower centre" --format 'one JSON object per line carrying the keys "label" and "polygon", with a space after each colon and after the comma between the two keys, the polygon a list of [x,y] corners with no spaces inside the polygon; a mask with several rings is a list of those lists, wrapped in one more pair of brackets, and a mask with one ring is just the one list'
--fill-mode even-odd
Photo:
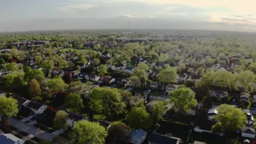
{"label": "narrow green tree just right of the broad tree at lower centre", "polygon": [[154,123],[158,122],[162,115],[165,114],[165,105],[163,102],[156,104],[153,108],[152,118]]}

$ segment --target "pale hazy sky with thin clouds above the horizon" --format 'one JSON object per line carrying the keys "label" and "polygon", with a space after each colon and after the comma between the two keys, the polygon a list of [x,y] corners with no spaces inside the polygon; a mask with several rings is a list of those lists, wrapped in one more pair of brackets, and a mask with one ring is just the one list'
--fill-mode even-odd
{"label": "pale hazy sky with thin clouds above the horizon", "polygon": [[256,32],[256,0],[0,0],[0,31],[210,29]]}

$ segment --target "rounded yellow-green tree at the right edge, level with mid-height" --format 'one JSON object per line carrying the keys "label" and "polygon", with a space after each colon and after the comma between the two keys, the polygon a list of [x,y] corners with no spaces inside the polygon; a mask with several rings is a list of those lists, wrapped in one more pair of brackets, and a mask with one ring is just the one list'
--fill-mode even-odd
{"label": "rounded yellow-green tree at the right edge, level with mid-height", "polygon": [[240,72],[237,75],[238,86],[244,91],[248,90],[251,85],[255,82],[255,75],[250,70]]}

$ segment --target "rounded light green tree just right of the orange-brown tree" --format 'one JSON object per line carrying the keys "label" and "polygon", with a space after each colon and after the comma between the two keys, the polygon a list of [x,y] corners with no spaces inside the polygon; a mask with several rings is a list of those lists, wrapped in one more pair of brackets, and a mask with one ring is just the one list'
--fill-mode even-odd
{"label": "rounded light green tree just right of the orange-brown tree", "polygon": [[56,77],[51,80],[48,80],[46,83],[46,87],[48,87],[48,92],[52,95],[56,95],[57,93],[64,91],[68,85],[61,79],[61,77]]}

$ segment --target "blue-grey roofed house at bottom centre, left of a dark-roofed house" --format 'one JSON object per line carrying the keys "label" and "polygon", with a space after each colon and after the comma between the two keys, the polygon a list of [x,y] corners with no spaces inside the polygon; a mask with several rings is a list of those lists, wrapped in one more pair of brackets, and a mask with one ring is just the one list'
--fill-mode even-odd
{"label": "blue-grey roofed house at bottom centre, left of a dark-roofed house", "polygon": [[142,129],[136,129],[128,134],[128,142],[131,144],[142,144],[146,139],[147,132]]}

